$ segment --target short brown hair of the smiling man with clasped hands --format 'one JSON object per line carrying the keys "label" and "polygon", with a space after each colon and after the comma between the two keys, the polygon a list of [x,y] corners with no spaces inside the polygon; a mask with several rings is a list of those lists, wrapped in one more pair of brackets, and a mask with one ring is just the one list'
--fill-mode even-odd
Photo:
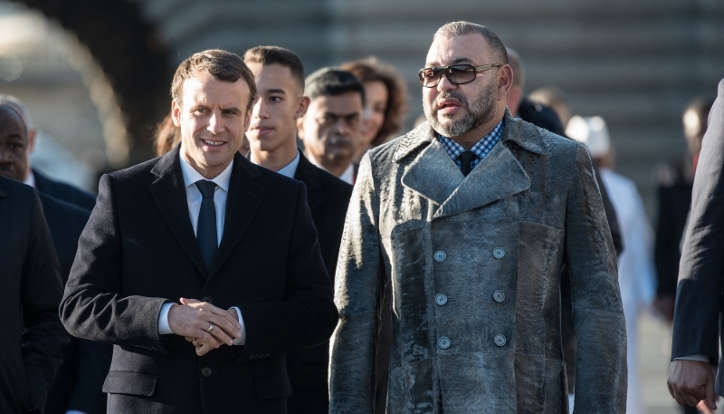
{"label": "short brown hair of the smiling man with clasped hands", "polygon": [[226,52],[221,49],[208,49],[204,52],[194,53],[187,57],[184,62],[178,65],[174,74],[174,81],[171,82],[171,98],[178,105],[182,105],[184,82],[197,73],[207,73],[214,79],[224,82],[236,82],[244,80],[249,86],[249,102],[246,110],[252,109],[256,98],[256,82],[252,71],[243,63],[243,59],[236,53]]}

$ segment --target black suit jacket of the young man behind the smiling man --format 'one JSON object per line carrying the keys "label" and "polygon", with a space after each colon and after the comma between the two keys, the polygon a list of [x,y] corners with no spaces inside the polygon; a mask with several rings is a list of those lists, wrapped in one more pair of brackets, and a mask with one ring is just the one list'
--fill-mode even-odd
{"label": "black suit jacket of the young man behind the smiling man", "polygon": [[[294,178],[307,186],[307,204],[317,227],[324,265],[334,280],[352,186],[317,168],[301,153]],[[329,342],[287,355],[292,390],[288,400],[290,414],[329,412],[328,370]]]}

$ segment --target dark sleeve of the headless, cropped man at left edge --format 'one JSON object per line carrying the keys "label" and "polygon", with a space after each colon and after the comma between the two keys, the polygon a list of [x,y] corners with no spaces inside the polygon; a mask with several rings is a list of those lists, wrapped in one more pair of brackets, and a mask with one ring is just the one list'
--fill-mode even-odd
{"label": "dark sleeve of the headless, cropped man at left edge", "polygon": [[30,400],[43,410],[48,390],[61,367],[62,346],[68,335],[58,317],[62,297],[61,266],[36,195],[30,246],[23,265],[23,362]]}

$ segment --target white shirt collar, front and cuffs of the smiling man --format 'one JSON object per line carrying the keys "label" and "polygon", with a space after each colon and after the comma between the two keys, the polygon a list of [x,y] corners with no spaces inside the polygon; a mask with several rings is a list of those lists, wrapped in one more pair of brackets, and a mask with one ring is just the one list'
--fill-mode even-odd
{"label": "white shirt collar, front and cuffs of the smiling man", "polygon": [[[184,177],[184,186],[186,187],[186,203],[188,204],[188,216],[191,219],[191,226],[194,227],[194,234],[196,234],[196,226],[198,225],[198,215],[201,211],[201,191],[196,188],[196,181],[200,179],[206,179],[198,171],[196,171],[191,164],[179,155],[181,159],[181,174]],[[222,236],[224,236],[224,218],[226,213],[226,197],[229,194],[229,181],[232,177],[233,160],[228,167],[224,169],[218,176],[212,178],[210,181],[214,181],[216,188],[214,188],[214,207],[216,207],[216,243],[221,245]],[[173,333],[171,328],[168,326],[168,311],[174,303],[164,303],[161,307],[161,313],[158,315],[158,333],[161,335],[167,335]],[[242,325],[242,338],[234,339],[234,345],[243,345],[246,343],[246,330],[243,325],[242,311],[233,306],[239,316],[239,323]]]}

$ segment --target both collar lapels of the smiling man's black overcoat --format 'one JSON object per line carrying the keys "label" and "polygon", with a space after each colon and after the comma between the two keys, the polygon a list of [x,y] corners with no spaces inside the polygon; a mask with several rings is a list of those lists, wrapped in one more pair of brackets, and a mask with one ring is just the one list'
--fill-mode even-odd
{"label": "both collar lapels of the smiling man's black overcoat", "polygon": [[179,148],[180,146],[177,145],[171,149],[151,169],[151,173],[156,175],[157,179],[151,183],[149,188],[161,214],[166,218],[168,226],[171,227],[179,243],[184,247],[186,255],[191,258],[198,271],[208,280],[214,276],[221,265],[224,265],[252,222],[262,200],[263,188],[254,182],[254,179],[261,173],[259,168],[248,159],[244,159],[241,154],[234,155],[229,194],[226,197],[224,236],[219,245],[215,266],[211,272],[206,272],[204,260],[194,235],[194,228],[188,217],[186,187],[178,158]]}

